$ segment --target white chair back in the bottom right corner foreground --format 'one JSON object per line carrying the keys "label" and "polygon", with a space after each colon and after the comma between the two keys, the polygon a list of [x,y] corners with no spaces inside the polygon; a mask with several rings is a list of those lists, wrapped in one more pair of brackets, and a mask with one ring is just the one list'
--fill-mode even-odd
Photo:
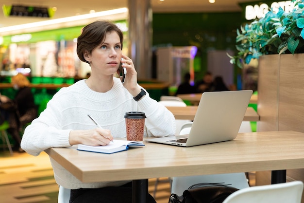
{"label": "white chair back in the bottom right corner foreground", "polygon": [[301,203],[303,182],[253,186],[229,195],[223,203]]}

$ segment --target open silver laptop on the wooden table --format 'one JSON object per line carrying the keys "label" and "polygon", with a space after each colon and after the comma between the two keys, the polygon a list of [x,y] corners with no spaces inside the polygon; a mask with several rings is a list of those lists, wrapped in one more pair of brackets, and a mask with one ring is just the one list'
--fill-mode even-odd
{"label": "open silver laptop on the wooden table", "polygon": [[191,147],[236,138],[252,90],[204,92],[188,135],[145,139],[148,142]]}

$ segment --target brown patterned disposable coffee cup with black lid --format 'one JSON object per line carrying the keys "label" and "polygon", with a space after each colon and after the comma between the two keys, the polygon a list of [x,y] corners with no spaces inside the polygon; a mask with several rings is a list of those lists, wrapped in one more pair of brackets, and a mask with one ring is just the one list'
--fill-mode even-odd
{"label": "brown patterned disposable coffee cup with black lid", "polygon": [[140,111],[126,112],[126,130],[127,140],[129,141],[143,141],[144,138],[144,127],[146,115]]}

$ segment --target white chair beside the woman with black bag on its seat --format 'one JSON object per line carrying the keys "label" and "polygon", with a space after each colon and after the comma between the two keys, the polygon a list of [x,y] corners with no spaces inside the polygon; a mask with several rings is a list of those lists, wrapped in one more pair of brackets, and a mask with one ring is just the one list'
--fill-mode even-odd
{"label": "white chair beside the woman with black bag on its seat", "polygon": [[[189,134],[191,126],[192,122],[185,123],[181,127],[180,135]],[[236,187],[237,189],[249,187],[248,179],[245,173],[183,176],[172,178],[171,193],[181,196],[183,195],[183,192],[191,185],[198,183],[225,183],[231,184],[230,186]]]}

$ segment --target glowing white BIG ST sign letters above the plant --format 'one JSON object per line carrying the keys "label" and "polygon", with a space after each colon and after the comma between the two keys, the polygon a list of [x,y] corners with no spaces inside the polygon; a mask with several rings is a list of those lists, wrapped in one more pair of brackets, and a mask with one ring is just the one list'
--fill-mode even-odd
{"label": "glowing white BIG ST sign letters above the plant", "polygon": [[245,7],[245,18],[247,20],[253,20],[255,18],[264,18],[265,15],[270,11],[273,10],[274,13],[279,11],[281,7],[285,12],[290,12],[295,7],[295,2],[291,2],[291,0],[287,1],[280,1],[280,2],[273,2],[269,6],[266,3],[262,3],[260,5],[247,5]]}

